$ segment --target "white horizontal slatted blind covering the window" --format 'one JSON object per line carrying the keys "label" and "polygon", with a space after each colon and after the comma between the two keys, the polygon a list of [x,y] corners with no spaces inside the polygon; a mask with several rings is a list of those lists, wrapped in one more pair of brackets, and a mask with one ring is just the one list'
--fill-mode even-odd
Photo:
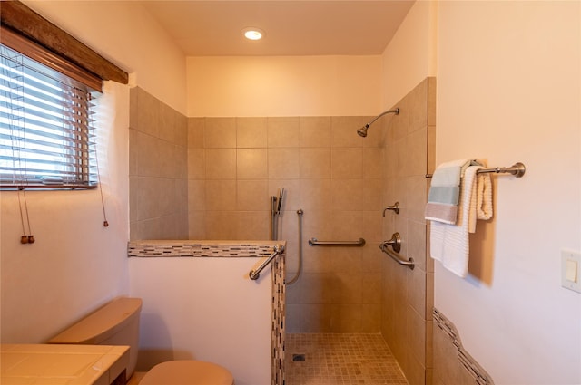
{"label": "white horizontal slatted blind covering the window", "polygon": [[0,45],[0,187],[94,188],[91,90]]}

